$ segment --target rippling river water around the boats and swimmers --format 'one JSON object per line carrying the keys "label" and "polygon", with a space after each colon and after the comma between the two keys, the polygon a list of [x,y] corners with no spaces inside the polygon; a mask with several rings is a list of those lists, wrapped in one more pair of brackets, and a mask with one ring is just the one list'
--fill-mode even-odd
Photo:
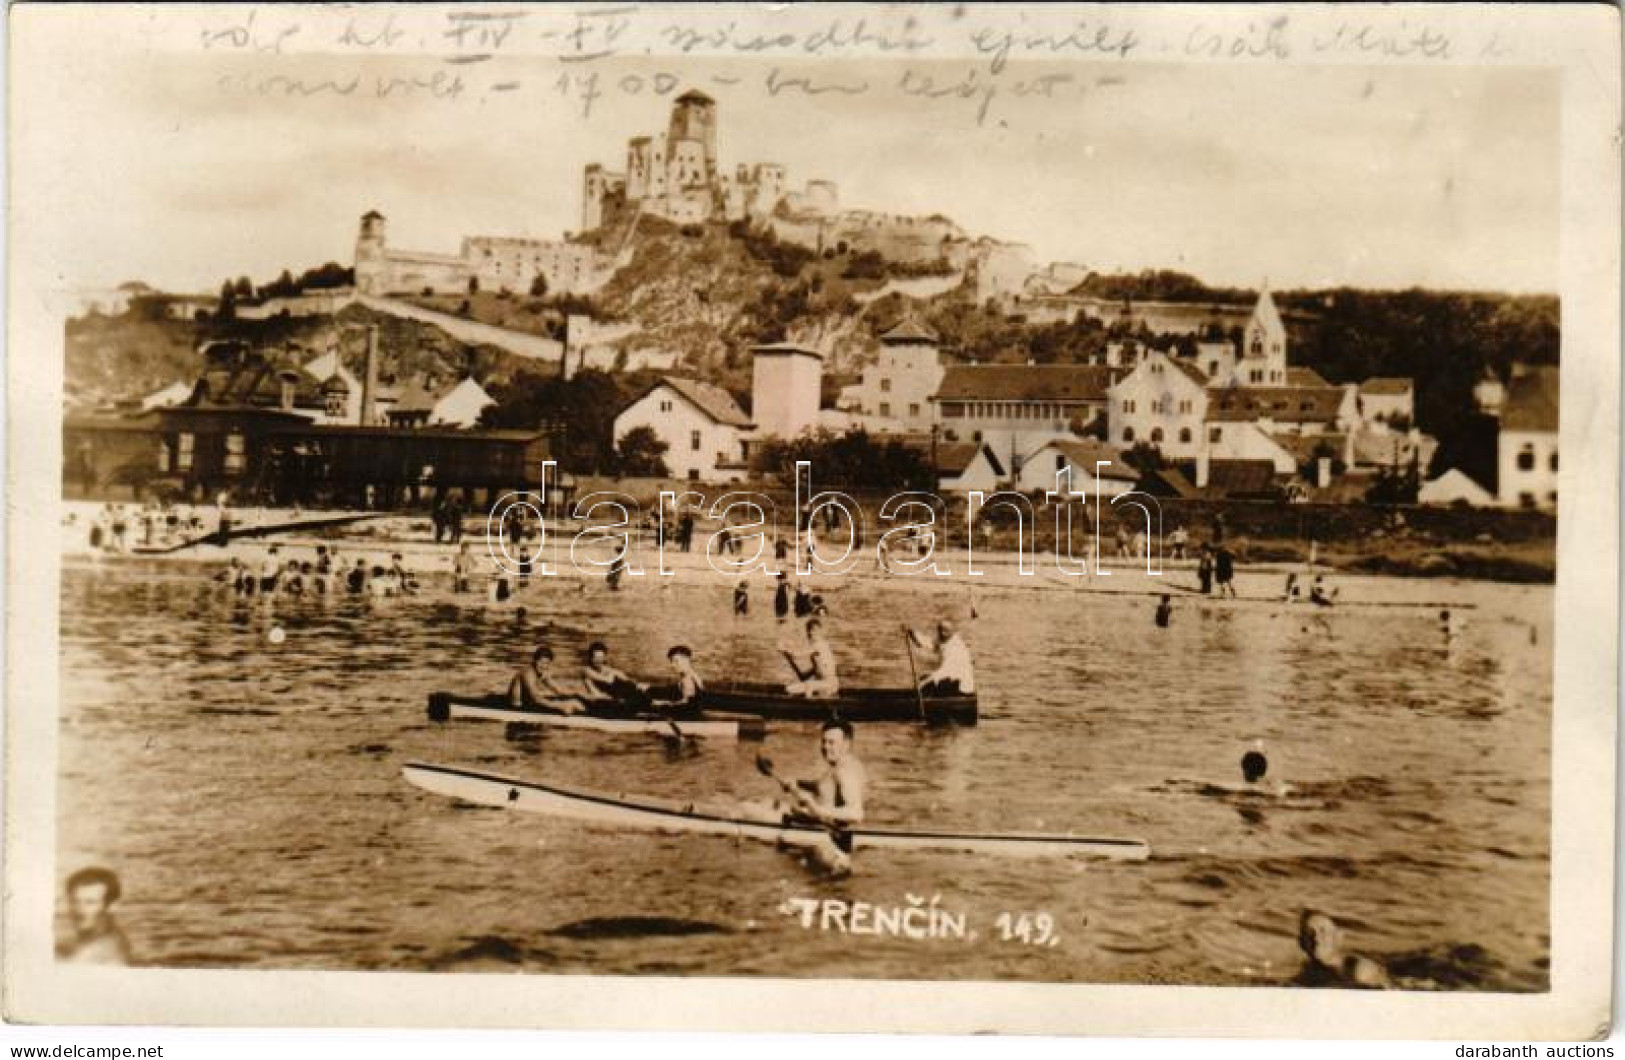
{"label": "rippling river water around the boats and swimmers", "polygon": [[[720,585],[561,579],[520,616],[439,580],[400,600],[240,602],[193,564],[68,564],[58,876],[115,868],[138,958],[177,967],[1276,985],[1313,907],[1406,985],[1544,990],[1552,592],[1436,592],[1477,606],[1448,650],[1424,608],[1180,598],[1159,629],[1142,597],[978,592],[982,723],[861,727],[871,821],[1133,836],[1152,858],[860,854],[832,880],[765,844],[470,808],[400,774],[426,759],[772,793],[754,756],[809,771],[814,727],[673,753],[424,715],[431,691],[500,688],[538,639],[566,663],[603,637],[634,673],[687,642],[702,676],[778,675],[764,589],[739,619]],[[899,579],[826,597],[848,684],[907,681],[902,618],[967,611],[960,589]],[[1285,793],[1232,790],[1254,740]],[[796,899],[934,901],[975,938],[808,928]],[[1045,945],[1003,938],[1001,914],[1016,928],[1024,912],[1053,923]]]}

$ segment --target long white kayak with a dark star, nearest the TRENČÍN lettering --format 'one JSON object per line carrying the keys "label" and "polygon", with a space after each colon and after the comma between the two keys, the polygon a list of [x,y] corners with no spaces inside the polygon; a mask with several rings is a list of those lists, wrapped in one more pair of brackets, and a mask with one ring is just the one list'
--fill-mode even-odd
{"label": "long white kayak with a dark star, nearest the TREN\u010c\u00cdN lettering", "polygon": [[852,850],[946,850],[990,857],[1103,857],[1142,862],[1150,847],[1141,839],[1100,839],[1042,832],[936,832],[892,828],[855,828],[832,834],[816,824],[754,821],[738,808],[707,806],[645,795],[609,795],[582,788],[520,780],[457,766],[408,762],[408,784],[479,806],[541,813],[590,824],[658,832],[733,836],[762,842],[814,847],[835,839]]}

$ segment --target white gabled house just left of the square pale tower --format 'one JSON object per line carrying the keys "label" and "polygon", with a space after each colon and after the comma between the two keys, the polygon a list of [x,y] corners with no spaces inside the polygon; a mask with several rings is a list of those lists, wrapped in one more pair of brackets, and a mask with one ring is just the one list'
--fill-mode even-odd
{"label": "white gabled house just left of the square pale tower", "polygon": [[[814,415],[817,384],[814,382]],[[722,387],[666,376],[614,418],[621,444],[637,428],[648,428],[666,444],[666,470],[694,481],[739,481],[746,475],[744,436],[751,419]]]}

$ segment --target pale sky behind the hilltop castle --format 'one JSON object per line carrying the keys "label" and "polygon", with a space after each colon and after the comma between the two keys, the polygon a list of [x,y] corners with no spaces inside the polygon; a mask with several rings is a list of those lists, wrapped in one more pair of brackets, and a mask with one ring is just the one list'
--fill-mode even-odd
{"label": "pale sky behind the hilltop castle", "polygon": [[[44,208],[70,219],[57,247],[68,288],[213,291],[228,275],[348,263],[370,208],[392,245],[416,250],[557,237],[578,226],[582,167],[622,169],[626,140],[663,130],[686,88],[717,99],[728,171],[777,161],[791,185],[835,180],[845,206],[944,213],[1040,262],[1277,289],[1558,286],[1558,80],[1536,70],[1012,63],[980,112],[980,96],[904,94],[902,67],[878,60],[786,62],[777,93],[770,63],[739,59],[452,68],[148,52],[62,65],[52,114],[75,135]],[[939,86],[968,70],[910,67],[915,85]],[[375,86],[447,70],[474,88],[455,101],[245,91],[270,75]],[[588,70],[608,91],[583,115]],[[670,75],[665,94],[655,73]],[[1045,73],[1069,81],[1017,96]],[[783,86],[796,76],[869,91]],[[518,88],[491,89],[502,81]]]}

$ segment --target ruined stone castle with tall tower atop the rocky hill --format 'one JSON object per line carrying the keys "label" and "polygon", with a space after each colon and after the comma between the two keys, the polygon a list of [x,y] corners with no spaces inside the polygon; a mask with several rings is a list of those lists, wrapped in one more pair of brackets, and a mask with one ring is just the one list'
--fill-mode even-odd
{"label": "ruined stone castle with tall tower atop the rocky hill", "polygon": [[691,89],[671,104],[665,135],[627,141],[626,172],[587,166],[582,229],[601,228],[626,208],[676,224],[767,218],[778,210],[829,216],[837,198],[829,180],[788,190],[785,167],[774,163],[741,164],[731,177],[723,174],[717,163],[717,101]]}

